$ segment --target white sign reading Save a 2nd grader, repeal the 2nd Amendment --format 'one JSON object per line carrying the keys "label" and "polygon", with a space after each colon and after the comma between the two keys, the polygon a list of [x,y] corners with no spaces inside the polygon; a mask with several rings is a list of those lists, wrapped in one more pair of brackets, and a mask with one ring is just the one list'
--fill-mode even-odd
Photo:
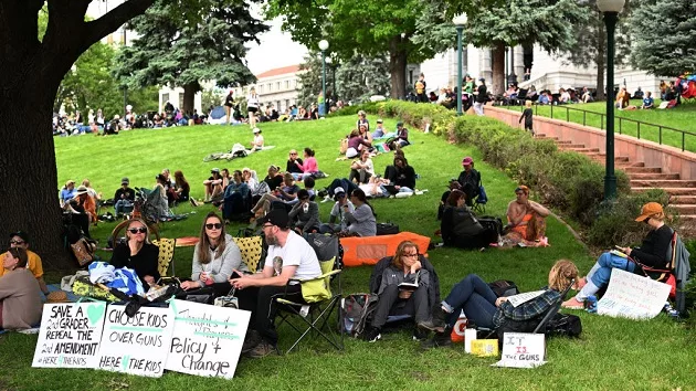
{"label": "white sign reading Save a 2nd grader, repeal the 2nd Amendment", "polygon": [[95,368],[106,303],[44,304],[32,367]]}

